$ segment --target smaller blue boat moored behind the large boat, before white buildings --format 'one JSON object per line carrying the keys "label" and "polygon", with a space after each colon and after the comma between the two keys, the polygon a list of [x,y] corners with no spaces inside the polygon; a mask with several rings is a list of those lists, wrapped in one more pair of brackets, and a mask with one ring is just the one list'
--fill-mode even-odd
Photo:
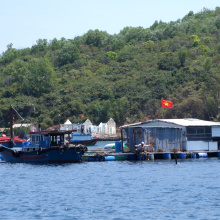
{"label": "smaller blue boat moored behind the large boat, before white buildings", "polygon": [[84,126],[79,125],[77,129],[72,131],[72,138],[70,139],[71,144],[82,144],[86,146],[94,146],[99,138],[92,137],[90,131],[84,131]]}

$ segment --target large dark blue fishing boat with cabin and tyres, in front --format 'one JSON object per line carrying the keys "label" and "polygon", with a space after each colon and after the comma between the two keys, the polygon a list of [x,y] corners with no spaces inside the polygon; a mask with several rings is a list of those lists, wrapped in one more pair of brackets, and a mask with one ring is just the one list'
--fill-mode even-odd
{"label": "large dark blue fishing boat with cabin and tyres, in front", "polygon": [[87,148],[69,144],[71,131],[31,132],[31,142],[21,149],[0,146],[2,160],[11,163],[74,163],[80,162]]}

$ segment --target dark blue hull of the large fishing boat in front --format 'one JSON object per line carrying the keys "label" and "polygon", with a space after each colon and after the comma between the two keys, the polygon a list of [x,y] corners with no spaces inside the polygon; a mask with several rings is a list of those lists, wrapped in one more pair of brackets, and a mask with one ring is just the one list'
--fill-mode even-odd
{"label": "dark blue hull of the large fishing boat in front", "polygon": [[65,149],[52,147],[24,152],[2,146],[0,147],[0,152],[2,160],[11,163],[75,163],[81,161],[84,148],[69,147]]}

